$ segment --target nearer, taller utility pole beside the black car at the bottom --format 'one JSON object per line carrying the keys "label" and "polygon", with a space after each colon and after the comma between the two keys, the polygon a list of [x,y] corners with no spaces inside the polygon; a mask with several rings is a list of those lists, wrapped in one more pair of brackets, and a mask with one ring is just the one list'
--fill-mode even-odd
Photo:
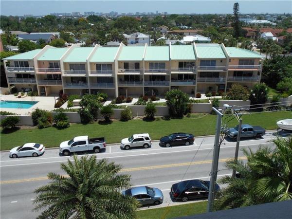
{"label": "nearer, taller utility pole beside the black car at the bottom", "polygon": [[209,185],[209,195],[208,195],[208,206],[207,211],[211,212],[213,208],[213,202],[215,198],[215,183],[217,180],[217,171],[218,171],[218,162],[219,162],[219,139],[221,133],[221,120],[223,114],[213,107],[213,110],[217,114],[217,124],[216,124],[216,134],[215,134],[215,142],[214,142],[214,150],[213,150],[213,159],[212,159],[212,169],[211,169],[211,179]]}

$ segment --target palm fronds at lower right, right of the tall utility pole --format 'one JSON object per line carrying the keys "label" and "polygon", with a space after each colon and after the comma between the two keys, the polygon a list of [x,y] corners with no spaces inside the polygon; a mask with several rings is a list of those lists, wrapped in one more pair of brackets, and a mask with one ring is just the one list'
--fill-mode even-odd
{"label": "palm fronds at lower right, right of the tall utility pole", "polygon": [[247,162],[226,162],[240,178],[225,176],[219,180],[228,186],[219,191],[214,206],[217,210],[292,199],[292,137],[277,137],[272,142],[274,150],[243,149]]}

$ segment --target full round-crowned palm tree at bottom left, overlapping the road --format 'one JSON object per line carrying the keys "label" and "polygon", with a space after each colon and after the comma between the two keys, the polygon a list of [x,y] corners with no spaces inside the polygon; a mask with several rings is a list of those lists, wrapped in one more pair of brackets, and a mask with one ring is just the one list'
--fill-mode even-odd
{"label": "full round-crowned palm tree at bottom left, overlapping the road", "polygon": [[39,219],[135,218],[137,200],[121,194],[130,186],[130,176],[118,174],[121,166],[95,156],[83,156],[61,164],[68,175],[50,172],[50,182],[36,189],[35,211],[43,210]]}

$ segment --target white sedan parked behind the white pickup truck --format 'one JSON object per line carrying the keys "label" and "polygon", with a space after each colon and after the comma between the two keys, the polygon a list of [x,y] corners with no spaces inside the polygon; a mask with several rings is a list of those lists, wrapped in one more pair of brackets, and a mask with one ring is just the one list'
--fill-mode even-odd
{"label": "white sedan parked behind the white pickup truck", "polygon": [[45,152],[45,146],[37,143],[27,143],[23,146],[14,147],[9,151],[9,157],[37,157]]}

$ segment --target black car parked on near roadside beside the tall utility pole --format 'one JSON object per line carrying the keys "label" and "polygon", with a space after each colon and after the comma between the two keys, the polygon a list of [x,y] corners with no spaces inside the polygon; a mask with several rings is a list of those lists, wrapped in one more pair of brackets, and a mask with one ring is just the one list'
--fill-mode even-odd
{"label": "black car parked on near roadside beside the tall utility pole", "polygon": [[[171,186],[170,192],[174,200],[188,201],[190,199],[207,198],[209,194],[210,181],[203,180],[186,180],[175,183]],[[215,190],[220,189],[215,185]]]}

